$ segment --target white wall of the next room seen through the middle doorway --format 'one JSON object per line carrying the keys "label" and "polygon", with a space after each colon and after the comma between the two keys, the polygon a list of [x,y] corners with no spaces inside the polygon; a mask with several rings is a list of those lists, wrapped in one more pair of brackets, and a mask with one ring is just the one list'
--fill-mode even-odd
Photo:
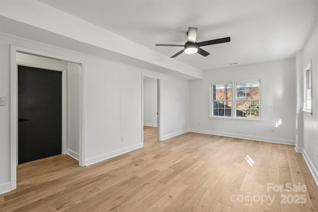
{"label": "white wall of the next room seen through the middle doorway", "polygon": [[157,127],[157,79],[144,77],[144,125]]}

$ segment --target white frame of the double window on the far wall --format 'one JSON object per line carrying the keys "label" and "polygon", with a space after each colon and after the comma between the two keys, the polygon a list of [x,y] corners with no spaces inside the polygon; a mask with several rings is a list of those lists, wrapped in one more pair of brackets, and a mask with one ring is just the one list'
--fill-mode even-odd
{"label": "white frame of the double window on the far wall", "polygon": [[[237,98],[237,83],[250,83],[250,82],[259,82],[259,117],[258,118],[247,118],[247,117],[237,117],[236,114],[236,102],[240,101],[240,98]],[[213,115],[213,85],[220,84],[232,84],[232,107],[231,107],[231,117],[229,116],[214,116]],[[242,80],[233,80],[233,81],[216,81],[209,82],[209,116],[210,119],[226,119],[226,120],[240,120],[240,121],[263,121],[263,107],[262,107],[262,78],[251,78],[251,79],[242,79]]]}

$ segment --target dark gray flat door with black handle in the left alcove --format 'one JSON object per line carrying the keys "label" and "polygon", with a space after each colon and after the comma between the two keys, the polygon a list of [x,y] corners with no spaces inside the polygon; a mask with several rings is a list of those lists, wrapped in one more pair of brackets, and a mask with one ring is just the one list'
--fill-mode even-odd
{"label": "dark gray flat door with black handle in the left alcove", "polygon": [[18,66],[18,163],[62,153],[62,72]]}

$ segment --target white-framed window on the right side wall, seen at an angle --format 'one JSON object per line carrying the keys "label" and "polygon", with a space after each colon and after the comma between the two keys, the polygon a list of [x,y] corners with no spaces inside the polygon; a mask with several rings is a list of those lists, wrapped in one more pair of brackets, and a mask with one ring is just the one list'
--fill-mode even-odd
{"label": "white-framed window on the right side wall, seen at an angle", "polygon": [[304,106],[303,112],[313,115],[313,72],[312,60],[304,68]]}

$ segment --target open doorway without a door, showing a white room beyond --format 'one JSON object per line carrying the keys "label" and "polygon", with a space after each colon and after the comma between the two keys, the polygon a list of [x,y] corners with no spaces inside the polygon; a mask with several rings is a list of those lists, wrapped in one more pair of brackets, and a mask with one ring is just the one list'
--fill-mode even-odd
{"label": "open doorway without a door, showing a white room beyond", "polygon": [[[161,141],[160,135],[160,78],[156,76],[144,75],[143,84],[143,101],[142,101],[142,138],[157,134],[157,141]],[[144,134],[144,133],[147,134]]]}

